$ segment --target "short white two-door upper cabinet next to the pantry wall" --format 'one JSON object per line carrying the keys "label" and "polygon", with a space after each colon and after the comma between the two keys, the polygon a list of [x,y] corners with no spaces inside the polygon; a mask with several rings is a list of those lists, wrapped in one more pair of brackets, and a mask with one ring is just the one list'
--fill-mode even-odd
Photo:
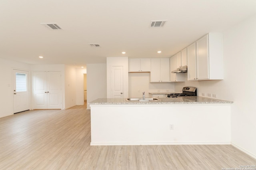
{"label": "short white two-door upper cabinet next to the pantry wall", "polygon": [[150,58],[132,58],[129,59],[129,72],[150,72]]}

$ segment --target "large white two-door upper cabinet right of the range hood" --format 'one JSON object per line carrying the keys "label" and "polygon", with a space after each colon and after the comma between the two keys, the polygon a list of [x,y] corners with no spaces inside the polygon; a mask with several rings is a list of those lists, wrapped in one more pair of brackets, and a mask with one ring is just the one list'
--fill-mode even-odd
{"label": "large white two-door upper cabinet right of the range hood", "polygon": [[222,33],[209,33],[187,47],[188,80],[223,79]]}

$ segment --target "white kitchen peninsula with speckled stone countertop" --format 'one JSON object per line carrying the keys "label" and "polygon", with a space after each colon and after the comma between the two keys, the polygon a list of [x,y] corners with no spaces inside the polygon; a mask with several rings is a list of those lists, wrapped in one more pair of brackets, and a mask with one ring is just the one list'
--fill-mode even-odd
{"label": "white kitchen peninsula with speckled stone countertop", "polygon": [[198,96],[159,99],[90,102],[91,145],[230,144],[233,102]]}

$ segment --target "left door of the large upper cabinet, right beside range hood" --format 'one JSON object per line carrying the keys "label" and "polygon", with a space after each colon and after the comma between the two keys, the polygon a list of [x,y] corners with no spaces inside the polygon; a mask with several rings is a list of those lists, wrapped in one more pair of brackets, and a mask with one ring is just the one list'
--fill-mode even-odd
{"label": "left door of the large upper cabinet, right beside range hood", "polygon": [[196,80],[196,43],[187,47],[188,80]]}

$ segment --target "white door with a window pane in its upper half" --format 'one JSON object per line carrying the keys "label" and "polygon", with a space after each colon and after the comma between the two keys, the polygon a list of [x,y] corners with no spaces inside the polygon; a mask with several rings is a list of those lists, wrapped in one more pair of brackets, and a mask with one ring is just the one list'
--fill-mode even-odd
{"label": "white door with a window pane in its upper half", "polygon": [[13,111],[29,110],[28,71],[13,70]]}

